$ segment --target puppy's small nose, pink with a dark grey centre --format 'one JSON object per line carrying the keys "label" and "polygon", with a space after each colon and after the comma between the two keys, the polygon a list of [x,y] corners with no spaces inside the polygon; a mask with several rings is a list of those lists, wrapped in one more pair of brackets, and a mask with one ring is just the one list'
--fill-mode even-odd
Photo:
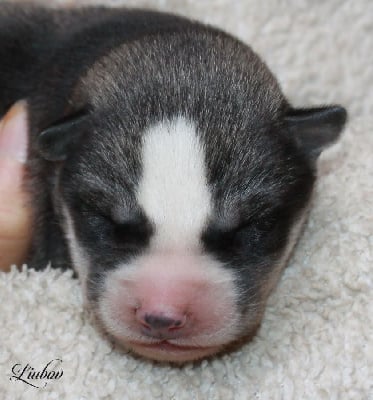
{"label": "puppy's small nose, pink with a dark grey centre", "polygon": [[141,332],[144,335],[162,339],[180,337],[187,321],[185,314],[142,308],[136,310],[136,319],[141,324]]}

